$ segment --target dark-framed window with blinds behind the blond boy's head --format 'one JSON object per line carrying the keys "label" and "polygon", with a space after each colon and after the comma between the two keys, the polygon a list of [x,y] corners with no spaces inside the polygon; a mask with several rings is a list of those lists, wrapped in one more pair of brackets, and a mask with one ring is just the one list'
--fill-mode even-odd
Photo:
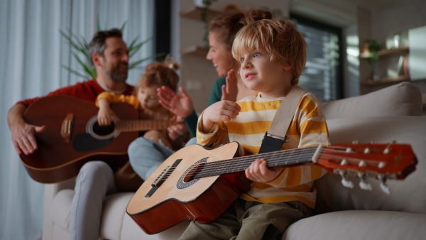
{"label": "dark-framed window with blinds behind the blond boy's head", "polygon": [[342,98],[342,40],[340,28],[290,15],[307,43],[306,68],[299,86],[322,102]]}

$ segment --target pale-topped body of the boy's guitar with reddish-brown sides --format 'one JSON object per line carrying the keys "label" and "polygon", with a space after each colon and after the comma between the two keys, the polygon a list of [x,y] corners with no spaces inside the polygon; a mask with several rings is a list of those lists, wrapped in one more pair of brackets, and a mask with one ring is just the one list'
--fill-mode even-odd
{"label": "pale-topped body of the boy's guitar with reddish-brown sides", "polygon": [[[212,150],[197,144],[180,149],[143,182],[126,212],[148,234],[156,234],[187,219],[212,222],[241,192],[250,189],[249,181],[244,172],[193,179],[192,173],[198,170],[192,166],[233,158],[238,149],[236,142]],[[163,182],[158,188],[153,187],[159,176],[164,177]]]}

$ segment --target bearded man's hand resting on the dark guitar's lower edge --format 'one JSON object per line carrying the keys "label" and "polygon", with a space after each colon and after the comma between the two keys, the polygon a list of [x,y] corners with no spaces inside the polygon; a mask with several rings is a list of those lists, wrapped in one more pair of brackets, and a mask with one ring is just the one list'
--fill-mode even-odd
{"label": "bearded man's hand resting on the dark guitar's lower edge", "polygon": [[27,124],[26,122],[18,122],[15,126],[11,127],[12,143],[16,153],[21,155],[29,155],[34,153],[37,149],[37,141],[35,141],[34,134],[45,131],[46,126],[35,126]]}

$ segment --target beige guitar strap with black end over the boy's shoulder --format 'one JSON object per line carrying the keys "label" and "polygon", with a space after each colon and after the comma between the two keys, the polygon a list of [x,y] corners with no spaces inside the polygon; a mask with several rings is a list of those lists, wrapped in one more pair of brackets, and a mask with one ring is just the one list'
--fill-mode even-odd
{"label": "beige guitar strap with black end over the boy's shoulder", "polygon": [[299,86],[293,86],[285,99],[283,99],[283,102],[281,102],[280,107],[278,107],[278,110],[273,117],[271,126],[269,126],[268,131],[265,133],[265,136],[263,136],[259,153],[268,153],[280,150],[281,146],[283,146],[287,140],[285,133],[287,133],[288,127],[295,116],[297,104],[299,104],[300,99],[305,92],[307,92],[306,89],[302,89],[302,87]]}

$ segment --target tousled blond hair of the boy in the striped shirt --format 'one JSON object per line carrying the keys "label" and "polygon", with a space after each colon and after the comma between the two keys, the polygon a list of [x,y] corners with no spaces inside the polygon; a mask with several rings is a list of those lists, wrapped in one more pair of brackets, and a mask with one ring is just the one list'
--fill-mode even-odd
{"label": "tousled blond hair of the boy in the striped shirt", "polygon": [[305,69],[307,44],[290,20],[263,19],[241,28],[232,45],[232,55],[239,61],[244,52],[251,50],[265,50],[271,54],[271,62],[290,66],[291,85],[297,85]]}

